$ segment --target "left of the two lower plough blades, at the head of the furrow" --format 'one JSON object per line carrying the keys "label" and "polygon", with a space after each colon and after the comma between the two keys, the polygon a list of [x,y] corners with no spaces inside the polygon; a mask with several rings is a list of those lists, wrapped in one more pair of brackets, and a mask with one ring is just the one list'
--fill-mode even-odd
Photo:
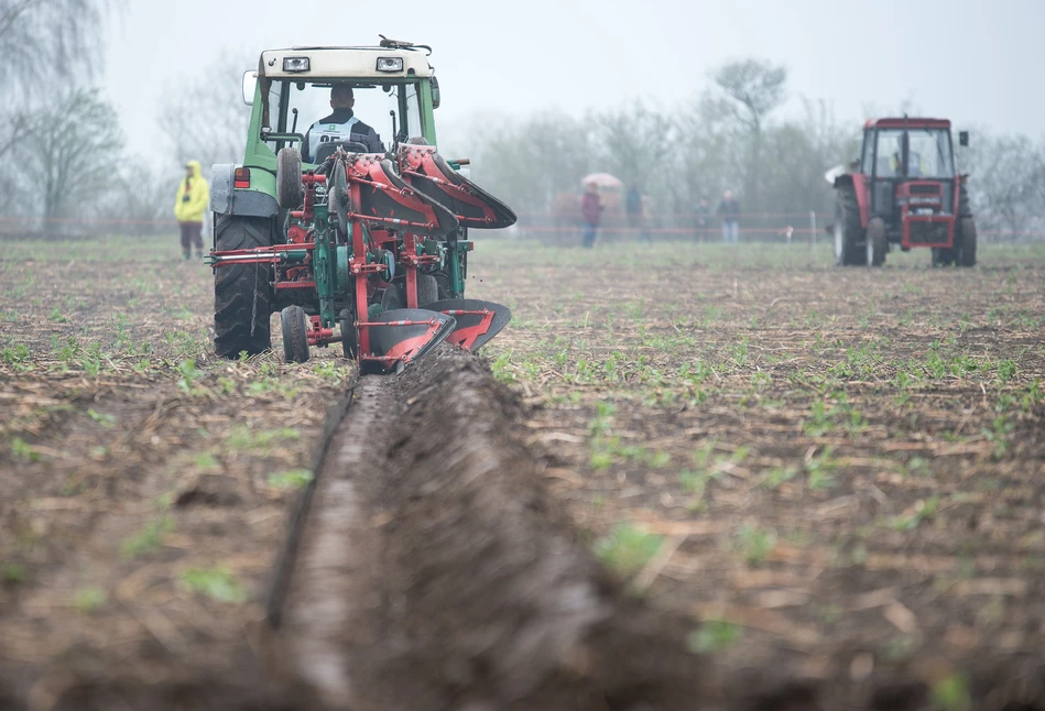
{"label": "left of the two lower plough blades, at the head of the furrow", "polygon": [[370,352],[360,356],[360,365],[364,372],[400,371],[442,343],[456,325],[453,316],[424,308],[383,311],[357,324],[360,331],[367,329],[370,341]]}

